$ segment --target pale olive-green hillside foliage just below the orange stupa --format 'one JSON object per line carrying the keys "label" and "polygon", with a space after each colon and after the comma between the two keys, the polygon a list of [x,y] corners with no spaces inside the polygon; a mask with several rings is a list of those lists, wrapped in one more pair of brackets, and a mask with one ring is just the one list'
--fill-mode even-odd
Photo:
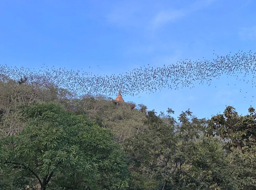
{"label": "pale olive-green hillside foliage just below the orange stupa", "polygon": [[146,128],[146,107],[131,109],[129,106],[116,105],[106,97],[83,97],[77,100],[76,113],[87,115],[99,125],[111,129],[117,142],[134,137]]}

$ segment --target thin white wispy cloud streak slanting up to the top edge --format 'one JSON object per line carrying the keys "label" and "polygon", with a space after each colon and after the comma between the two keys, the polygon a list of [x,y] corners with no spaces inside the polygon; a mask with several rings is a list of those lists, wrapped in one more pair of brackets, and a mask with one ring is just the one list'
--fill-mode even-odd
{"label": "thin white wispy cloud streak slanting up to the top edge", "polygon": [[191,4],[189,7],[182,8],[182,9],[169,9],[169,10],[162,10],[158,12],[155,17],[153,18],[152,24],[154,28],[160,27],[163,24],[168,22],[176,21],[179,18],[182,18],[191,12],[195,12],[200,10],[204,7],[207,7],[212,4],[216,0],[198,0]]}

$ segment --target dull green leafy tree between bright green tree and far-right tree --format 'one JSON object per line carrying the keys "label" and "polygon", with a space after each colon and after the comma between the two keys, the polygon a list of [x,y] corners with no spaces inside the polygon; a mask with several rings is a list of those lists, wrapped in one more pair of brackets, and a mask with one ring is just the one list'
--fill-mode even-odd
{"label": "dull green leafy tree between bright green tree and far-right tree", "polygon": [[204,136],[204,119],[187,110],[176,122],[149,111],[146,124],[127,145],[132,189],[236,189],[221,144]]}

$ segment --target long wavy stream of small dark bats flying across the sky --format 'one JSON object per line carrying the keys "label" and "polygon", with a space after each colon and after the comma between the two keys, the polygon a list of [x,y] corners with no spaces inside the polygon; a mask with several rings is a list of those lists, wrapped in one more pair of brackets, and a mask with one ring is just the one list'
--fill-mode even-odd
{"label": "long wavy stream of small dark bats flying across the sky", "polygon": [[[230,52],[231,53],[231,52]],[[42,67],[35,70],[30,68],[9,67],[0,65],[0,79],[9,78],[19,81],[24,77],[27,82],[44,86],[54,84],[65,88],[76,96],[90,94],[116,95],[121,89],[123,95],[137,96],[142,92],[155,93],[163,88],[177,90],[179,88],[193,88],[196,83],[211,84],[211,80],[223,74],[238,78],[251,76],[252,87],[254,82],[256,55],[252,51],[239,51],[236,54],[218,56],[213,60],[178,61],[175,64],[163,67],[146,66],[135,68],[132,71],[111,75],[94,75],[92,72],[67,70],[65,68]]]}

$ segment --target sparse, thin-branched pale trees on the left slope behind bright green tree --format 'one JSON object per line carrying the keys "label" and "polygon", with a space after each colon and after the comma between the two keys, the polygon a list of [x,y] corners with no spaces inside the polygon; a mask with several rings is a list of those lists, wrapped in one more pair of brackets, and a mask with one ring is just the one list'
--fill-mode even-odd
{"label": "sparse, thin-branched pale trees on the left slope behind bright green tree", "polygon": [[24,124],[17,113],[20,106],[33,102],[56,102],[73,111],[72,94],[54,84],[31,84],[26,77],[19,81],[0,76],[0,138],[15,135]]}

